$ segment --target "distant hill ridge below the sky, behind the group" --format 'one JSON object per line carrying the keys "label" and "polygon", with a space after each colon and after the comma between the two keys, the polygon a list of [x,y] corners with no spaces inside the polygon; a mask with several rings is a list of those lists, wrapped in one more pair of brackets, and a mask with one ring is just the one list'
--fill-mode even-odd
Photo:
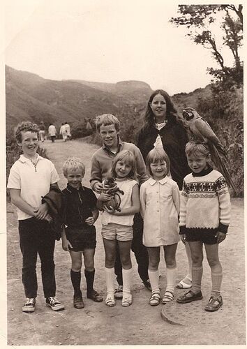
{"label": "distant hill ridge below the sky, behind the group", "polygon": [[[128,80],[116,84],[84,80],[50,80],[27,71],[6,66],[6,129],[22,120],[37,124],[53,122],[57,127],[68,121],[76,124],[84,118],[104,113],[139,118],[152,90],[142,81]],[[196,106],[198,98],[209,95],[209,86],[190,94],[176,94],[173,100],[179,112],[184,106]],[[121,122],[122,122],[121,121]],[[128,121],[127,121],[128,122]]]}

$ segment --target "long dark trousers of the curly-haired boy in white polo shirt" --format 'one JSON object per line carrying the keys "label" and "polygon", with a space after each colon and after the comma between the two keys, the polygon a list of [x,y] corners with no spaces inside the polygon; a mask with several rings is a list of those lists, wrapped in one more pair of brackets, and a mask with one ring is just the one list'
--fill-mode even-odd
{"label": "long dark trousers of the curly-haired boy in white polo shirt", "polygon": [[37,255],[40,257],[41,276],[45,298],[56,295],[54,274],[55,238],[47,221],[28,218],[19,221],[20,249],[22,251],[22,283],[27,298],[36,298],[38,283],[36,275]]}

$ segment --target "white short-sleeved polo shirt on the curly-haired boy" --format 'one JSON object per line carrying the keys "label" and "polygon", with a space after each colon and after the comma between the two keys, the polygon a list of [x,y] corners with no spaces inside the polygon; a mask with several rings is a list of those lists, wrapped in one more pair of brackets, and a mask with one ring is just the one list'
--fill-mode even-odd
{"label": "white short-sleeved polo shirt on the curly-haired boy", "polygon": [[[20,189],[20,197],[31,207],[40,207],[42,196],[50,191],[50,184],[59,181],[59,175],[53,163],[38,155],[36,167],[29,158],[21,155],[10,169],[7,188]],[[31,218],[18,209],[18,220]]]}

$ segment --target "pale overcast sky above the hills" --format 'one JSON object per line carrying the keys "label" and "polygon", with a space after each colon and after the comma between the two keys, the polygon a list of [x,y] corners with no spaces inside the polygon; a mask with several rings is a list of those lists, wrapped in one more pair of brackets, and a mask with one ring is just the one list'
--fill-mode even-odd
{"label": "pale overcast sky above the hills", "polygon": [[178,3],[8,0],[6,64],[54,80],[142,80],[169,94],[205,87],[207,67],[216,64],[209,50],[186,38],[184,27],[168,22]]}

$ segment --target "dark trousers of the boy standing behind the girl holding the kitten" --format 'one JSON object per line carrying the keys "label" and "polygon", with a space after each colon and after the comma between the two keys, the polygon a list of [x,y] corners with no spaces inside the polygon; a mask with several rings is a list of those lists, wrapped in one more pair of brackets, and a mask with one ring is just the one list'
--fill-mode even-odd
{"label": "dark trousers of the boy standing behind the girl holding the kitten", "polygon": [[[133,242],[131,249],[135,253],[135,259],[138,265],[138,274],[142,281],[147,281],[149,279],[148,269],[149,269],[149,255],[147,253],[147,248],[142,244],[143,235],[143,219],[140,213],[135,214],[133,223]],[[119,255],[119,247],[117,244],[116,262],[114,265],[114,271],[117,275],[117,283],[123,285],[122,276],[122,266]]]}

